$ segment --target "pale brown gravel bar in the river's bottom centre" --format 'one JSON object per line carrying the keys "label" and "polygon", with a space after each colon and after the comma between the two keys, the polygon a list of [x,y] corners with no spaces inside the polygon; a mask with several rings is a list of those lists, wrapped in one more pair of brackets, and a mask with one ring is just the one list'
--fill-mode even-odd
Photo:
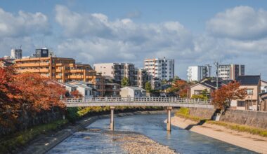
{"label": "pale brown gravel bar in the river's bottom centre", "polygon": [[113,141],[119,143],[119,146],[126,151],[126,153],[155,153],[155,154],[174,154],[168,146],[158,144],[152,139],[145,137],[143,134],[136,132],[105,132]]}

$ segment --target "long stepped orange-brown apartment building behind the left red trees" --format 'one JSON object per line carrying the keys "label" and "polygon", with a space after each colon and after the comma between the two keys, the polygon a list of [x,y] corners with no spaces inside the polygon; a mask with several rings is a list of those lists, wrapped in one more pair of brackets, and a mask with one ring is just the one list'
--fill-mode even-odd
{"label": "long stepped orange-brown apartment building behind the left red trees", "polygon": [[15,59],[18,73],[39,73],[60,83],[80,80],[96,85],[98,96],[104,94],[104,78],[96,73],[89,64],[76,64],[72,58],[30,57]]}

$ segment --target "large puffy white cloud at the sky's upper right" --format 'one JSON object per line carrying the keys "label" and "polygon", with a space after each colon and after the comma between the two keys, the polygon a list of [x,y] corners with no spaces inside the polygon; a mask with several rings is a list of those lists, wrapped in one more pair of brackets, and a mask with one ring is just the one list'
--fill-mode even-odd
{"label": "large puffy white cloud at the sky's upper right", "polygon": [[249,6],[230,8],[207,22],[209,34],[236,39],[259,39],[267,36],[267,11]]}

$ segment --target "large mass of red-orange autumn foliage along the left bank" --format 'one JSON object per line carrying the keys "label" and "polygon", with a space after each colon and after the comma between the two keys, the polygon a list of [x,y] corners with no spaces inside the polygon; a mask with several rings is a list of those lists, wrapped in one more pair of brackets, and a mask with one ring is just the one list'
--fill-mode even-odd
{"label": "large mass of red-orange autumn foliage along the left bank", "polygon": [[0,68],[0,125],[12,126],[27,112],[65,108],[60,102],[64,94],[64,87],[37,73],[16,74],[12,67]]}

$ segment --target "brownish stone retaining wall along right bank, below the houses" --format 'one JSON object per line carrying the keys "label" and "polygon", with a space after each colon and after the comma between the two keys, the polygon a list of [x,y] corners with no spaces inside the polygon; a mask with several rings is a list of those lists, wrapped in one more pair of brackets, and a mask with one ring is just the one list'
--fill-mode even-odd
{"label": "brownish stone retaining wall along right bank, below the houses", "polygon": [[[190,116],[210,119],[215,109],[190,108]],[[228,109],[220,121],[267,129],[267,112]]]}

